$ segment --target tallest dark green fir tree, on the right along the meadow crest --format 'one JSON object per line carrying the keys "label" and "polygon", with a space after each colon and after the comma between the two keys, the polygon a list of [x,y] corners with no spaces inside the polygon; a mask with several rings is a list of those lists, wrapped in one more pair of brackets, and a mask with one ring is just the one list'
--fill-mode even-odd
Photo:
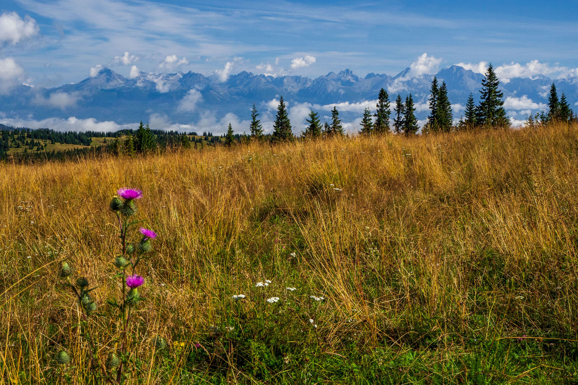
{"label": "tallest dark green fir tree, on the right along the meadow crest", "polygon": [[476,121],[480,126],[486,128],[510,126],[510,119],[506,117],[506,110],[503,107],[503,92],[498,91],[499,84],[494,66],[490,63],[481,81],[480,104],[476,107]]}

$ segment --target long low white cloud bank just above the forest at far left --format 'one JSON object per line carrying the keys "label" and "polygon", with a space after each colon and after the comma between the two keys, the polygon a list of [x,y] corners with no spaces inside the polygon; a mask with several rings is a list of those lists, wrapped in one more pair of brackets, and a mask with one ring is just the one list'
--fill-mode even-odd
{"label": "long low white cloud bank just above the forest at far left", "polygon": [[98,122],[94,118],[77,119],[76,117],[69,117],[68,119],[61,118],[47,118],[42,120],[34,119],[0,119],[0,123],[14,126],[14,127],[49,127],[57,131],[100,131],[110,132],[120,129],[136,129],[137,123],[119,125],[113,121]]}

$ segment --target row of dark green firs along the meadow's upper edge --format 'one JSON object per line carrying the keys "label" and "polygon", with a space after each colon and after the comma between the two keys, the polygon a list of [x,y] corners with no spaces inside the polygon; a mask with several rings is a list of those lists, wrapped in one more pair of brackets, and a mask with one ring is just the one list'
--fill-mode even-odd
{"label": "row of dark green firs along the meadow's upper edge", "polygon": [[[454,116],[450,99],[447,95],[447,85],[442,81],[440,85],[436,76],[433,77],[428,99],[429,115],[421,133],[450,132],[452,130],[462,129],[487,129],[487,128],[506,128],[512,123],[506,116],[506,110],[503,107],[503,92],[499,91],[499,79],[490,63],[481,81],[480,100],[476,104],[473,94],[470,94],[465,106],[465,113],[457,124],[454,124]],[[548,113],[538,113],[531,115],[529,121],[546,124],[549,122],[570,122],[576,121],[576,114],[570,109],[566,96],[562,93],[558,99],[555,84],[552,83],[549,96]],[[364,110],[361,119],[361,134],[385,134],[394,132],[396,134],[414,135],[419,130],[418,121],[415,115],[415,105],[413,95],[409,94],[405,100],[401,95],[395,99],[395,107],[392,111],[390,108],[390,99],[387,91],[383,88],[377,96],[375,113],[369,108]],[[291,121],[288,117],[287,106],[283,95],[279,98],[277,114],[273,123],[273,133],[265,135],[261,121],[257,119],[259,113],[253,104],[251,111],[251,123],[249,126],[251,139],[271,140],[273,142],[287,141],[295,139],[292,133]],[[339,119],[339,111],[334,106],[331,111],[331,122],[321,124],[318,113],[310,110],[309,118],[306,119],[307,126],[301,133],[301,137],[320,138],[334,135],[343,135],[344,130]],[[391,124],[391,125],[390,125]],[[532,123],[533,124],[533,123]],[[235,134],[231,124],[228,126],[225,134],[225,144],[232,145],[235,143]]]}

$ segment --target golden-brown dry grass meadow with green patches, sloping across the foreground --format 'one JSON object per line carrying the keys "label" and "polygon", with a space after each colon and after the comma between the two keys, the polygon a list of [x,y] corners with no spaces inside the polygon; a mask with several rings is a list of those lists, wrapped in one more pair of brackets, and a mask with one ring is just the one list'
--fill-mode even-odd
{"label": "golden-brown dry grass meadow with green patches, sloping across the foreground", "polygon": [[60,349],[103,383],[58,270],[113,349],[121,187],[158,233],[142,383],[576,384],[577,165],[576,125],[2,164],[0,384],[62,383]]}

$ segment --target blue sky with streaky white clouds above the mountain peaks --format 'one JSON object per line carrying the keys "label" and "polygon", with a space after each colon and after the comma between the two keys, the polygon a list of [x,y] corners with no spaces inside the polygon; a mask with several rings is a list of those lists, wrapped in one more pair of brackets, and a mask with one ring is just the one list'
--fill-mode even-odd
{"label": "blue sky with streaky white clouds above the mountain peaks", "polygon": [[0,80],[55,87],[101,67],[124,76],[365,76],[488,61],[506,64],[503,76],[578,76],[576,9],[578,1],[3,1]]}

